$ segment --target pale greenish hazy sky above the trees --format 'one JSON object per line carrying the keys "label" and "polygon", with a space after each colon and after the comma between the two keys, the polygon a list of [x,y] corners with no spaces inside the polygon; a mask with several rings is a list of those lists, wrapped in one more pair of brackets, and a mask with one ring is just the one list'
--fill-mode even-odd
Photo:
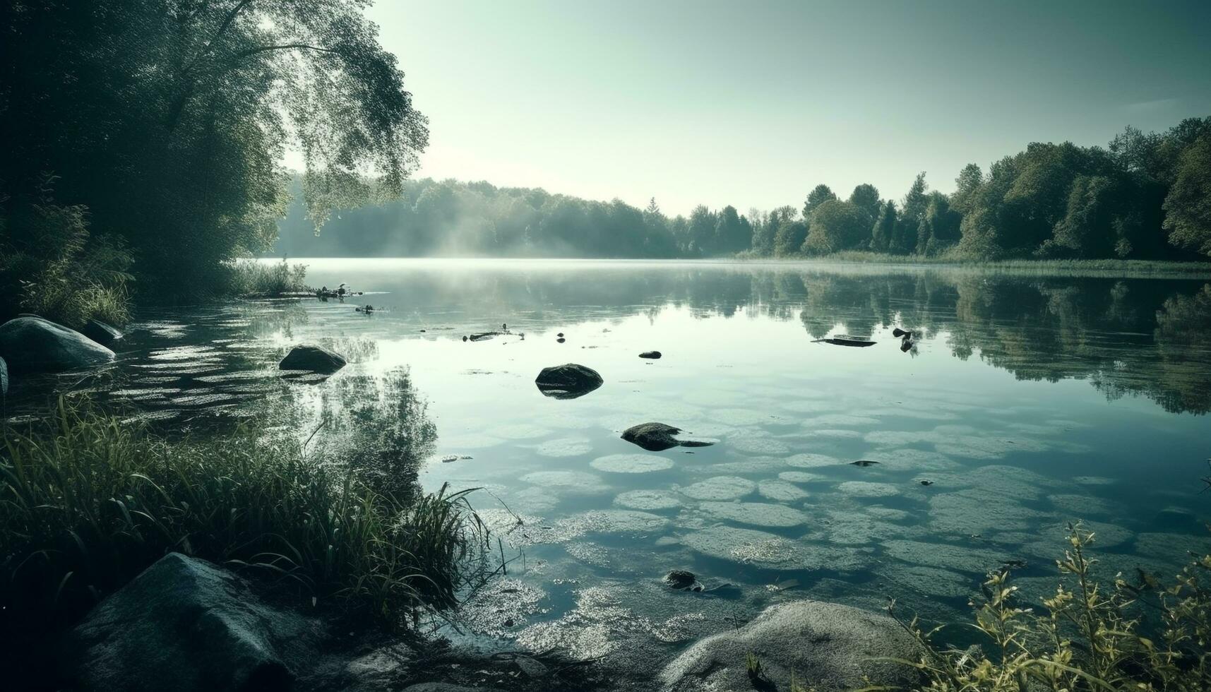
{"label": "pale greenish hazy sky above the trees", "polygon": [[378,0],[417,177],[769,210],[1211,115],[1211,0]]}

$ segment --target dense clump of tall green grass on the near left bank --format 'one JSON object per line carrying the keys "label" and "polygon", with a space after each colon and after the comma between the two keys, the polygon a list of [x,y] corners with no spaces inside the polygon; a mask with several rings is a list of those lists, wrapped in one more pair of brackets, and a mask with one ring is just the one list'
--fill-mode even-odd
{"label": "dense clump of tall green grass on the near left bank", "polygon": [[167,551],[272,579],[391,627],[449,610],[489,570],[465,493],[407,502],[249,430],[167,441],[58,405],[0,447],[0,634],[70,623]]}

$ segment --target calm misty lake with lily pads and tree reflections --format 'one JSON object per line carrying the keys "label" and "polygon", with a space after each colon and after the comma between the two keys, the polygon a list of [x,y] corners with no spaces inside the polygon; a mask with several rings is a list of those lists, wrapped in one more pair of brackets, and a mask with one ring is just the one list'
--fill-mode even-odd
{"label": "calm misty lake with lily pads and tree reflections", "polygon": [[[1206,278],[302,262],[314,285],[369,293],[145,313],[117,367],[58,384],[173,433],[265,416],[317,459],[389,437],[368,463],[400,488],[480,488],[469,499],[512,561],[452,636],[655,664],[786,599],[894,597],[952,622],[1009,564],[1037,601],[1078,519],[1102,577],[1171,576],[1207,550]],[[839,333],[876,344],[816,342]],[[300,342],[351,365],[280,378]],[[544,396],[536,374],[566,362],[604,384]],[[716,444],[648,452],[620,439],[645,422]],[[707,590],[662,585],[673,568]]]}

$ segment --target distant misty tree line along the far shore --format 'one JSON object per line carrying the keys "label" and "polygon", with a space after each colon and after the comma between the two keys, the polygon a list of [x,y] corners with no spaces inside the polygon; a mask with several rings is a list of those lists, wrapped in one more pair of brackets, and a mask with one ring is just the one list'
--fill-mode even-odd
{"label": "distant misty tree line along the far shore", "polygon": [[896,256],[1152,258],[1211,256],[1211,118],[1163,133],[1127,127],[1108,147],[1034,143],[969,164],[955,190],[925,173],[897,200],[860,184],[842,199],[816,185],[802,207],[741,215],[695,207],[670,217],[486,182],[406,182],[400,199],[340,212],[322,235],[295,205],[279,253],[518,257]]}

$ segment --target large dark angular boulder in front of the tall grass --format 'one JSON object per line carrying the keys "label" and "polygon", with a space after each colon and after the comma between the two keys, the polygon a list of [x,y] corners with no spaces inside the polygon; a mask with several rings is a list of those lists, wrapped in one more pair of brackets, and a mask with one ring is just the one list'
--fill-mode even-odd
{"label": "large dark angular boulder in front of the tall grass", "polygon": [[289,690],[315,659],[312,635],[231,572],[171,553],[71,631],[65,670],[76,690]]}

